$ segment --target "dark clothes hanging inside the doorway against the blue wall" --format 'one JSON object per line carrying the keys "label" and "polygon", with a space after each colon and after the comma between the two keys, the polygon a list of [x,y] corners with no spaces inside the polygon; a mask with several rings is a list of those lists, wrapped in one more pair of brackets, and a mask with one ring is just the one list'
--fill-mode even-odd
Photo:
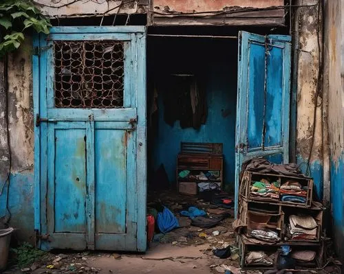
{"label": "dark clothes hanging inside the doorway against the blue wall", "polygon": [[180,120],[181,128],[200,128],[208,113],[205,85],[195,76],[171,75],[164,92],[164,121],[173,126]]}

